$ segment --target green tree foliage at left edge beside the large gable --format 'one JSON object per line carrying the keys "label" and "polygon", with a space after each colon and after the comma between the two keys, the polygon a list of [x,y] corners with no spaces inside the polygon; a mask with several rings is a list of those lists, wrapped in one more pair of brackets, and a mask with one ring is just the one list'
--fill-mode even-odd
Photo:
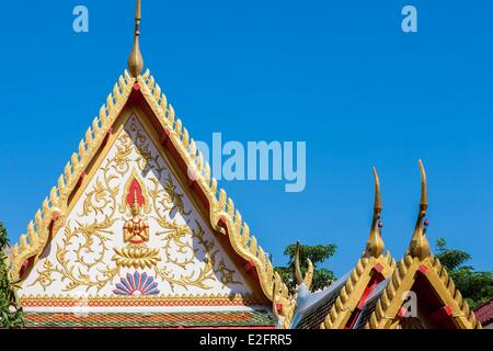
{"label": "green tree foliage at left edge beside the large gable", "polygon": [[20,328],[24,325],[22,307],[15,294],[16,285],[10,281],[5,250],[9,248],[7,229],[0,222],[0,328]]}

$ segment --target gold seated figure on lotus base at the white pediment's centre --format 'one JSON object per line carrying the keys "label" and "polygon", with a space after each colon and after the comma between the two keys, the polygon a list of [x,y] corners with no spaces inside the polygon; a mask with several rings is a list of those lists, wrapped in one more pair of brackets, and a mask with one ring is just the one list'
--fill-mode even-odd
{"label": "gold seated figure on lotus base at the white pediment's centre", "polygon": [[152,268],[161,260],[159,249],[147,247],[149,241],[149,224],[140,216],[140,204],[137,197],[137,189],[134,188],[134,201],[130,205],[131,218],[124,225],[125,248],[113,249],[115,254],[112,260],[118,267],[144,269]]}

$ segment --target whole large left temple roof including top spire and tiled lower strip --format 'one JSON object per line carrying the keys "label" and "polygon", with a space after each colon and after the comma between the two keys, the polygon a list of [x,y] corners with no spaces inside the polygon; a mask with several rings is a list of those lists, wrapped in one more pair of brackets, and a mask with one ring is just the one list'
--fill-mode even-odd
{"label": "whole large left temple roof including top spire and tiled lower strip", "polygon": [[[168,102],[153,76],[149,70],[142,73],[144,59],[139,45],[140,0],[136,3],[134,45],[128,58],[128,70],[118,78],[113,91],[106,98],[106,103],[93,118],[84,138],[79,144],[78,151],[72,154],[64,173],[59,177],[57,185],[51,189],[49,196],[36,212],[34,220],[28,224],[27,234],[22,235],[20,242],[12,248],[10,267],[13,278],[22,281],[20,294],[27,326],[273,328],[275,325],[272,315],[274,301],[276,306],[280,306],[280,310],[293,309],[288,288],[282,282],[279,274],[274,272],[272,262],[257,245],[256,238],[250,234],[249,225],[242,219],[232,199],[225,190],[218,188],[217,180],[210,174],[209,165],[204,160],[182,121],[175,116],[173,106]],[[131,139],[133,143],[138,144],[142,138],[147,138],[145,134],[149,134],[150,144],[138,145],[134,148],[127,143]],[[126,148],[128,152],[134,149],[137,152],[137,161],[131,163],[135,166],[123,159],[128,156]],[[153,148],[157,148],[156,155],[152,154]],[[100,159],[104,155],[112,155],[113,150],[116,150],[117,158],[108,159],[107,165],[110,161],[116,161],[116,163],[112,168],[108,166],[104,169],[101,165],[106,160]],[[142,156],[146,157],[147,162],[154,160],[161,163],[158,162],[159,165],[157,163],[151,173],[142,171],[139,174],[140,172],[136,172],[135,169],[131,171],[131,167],[140,167],[139,160]],[[130,168],[115,173],[115,170],[118,171],[118,167],[123,165],[122,160],[130,165]],[[158,189],[161,186],[159,179],[151,179],[148,184],[145,183],[144,177],[154,177],[168,169],[170,174],[162,181],[162,190]],[[104,172],[104,177],[101,176],[94,191],[89,192],[90,182],[92,178],[98,177],[98,172]],[[114,174],[107,177],[107,172]],[[89,197],[98,191],[101,194],[103,186],[101,183],[112,182],[119,177],[118,174],[123,177],[122,182],[127,182],[126,185],[119,183],[116,188],[112,188],[113,185],[110,184],[107,192],[108,196],[116,200],[116,191],[123,191],[122,200],[118,204],[114,201],[113,207],[98,210],[98,205],[94,205]],[[124,180],[127,178],[128,181]],[[134,179],[133,182],[130,182],[131,179]],[[156,189],[152,190],[152,186]],[[134,191],[133,196],[129,194],[130,189]],[[177,192],[179,189],[182,193]],[[116,267],[108,268],[108,261],[99,261],[103,265],[107,263],[107,270],[104,270],[104,275],[101,275],[100,270],[94,273],[96,278],[91,278],[89,271],[98,262],[85,261],[94,256],[95,249],[90,246],[96,239],[112,240],[107,237],[107,233],[113,233],[113,229],[104,228],[110,226],[114,228],[113,224],[121,219],[116,219],[117,217],[111,219],[106,216],[106,218],[101,217],[103,220],[101,223],[70,228],[70,225],[80,222],[78,218],[80,214],[74,213],[73,208],[83,205],[82,213],[92,211],[98,214],[98,211],[102,213],[113,208],[113,212],[118,210],[123,214],[129,214],[129,211],[134,211],[131,210],[134,204],[137,204],[138,212],[147,214],[153,211],[153,207],[156,211],[161,211],[159,208],[162,207],[156,206],[156,200],[153,205],[150,200],[151,196],[157,199],[159,194],[164,194],[164,200],[171,201],[174,208],[171,208],[167,215],[156,214],[156,217],[161,220],[160,226],[176,236],[169,237],[171,240],[168,241],[169,245],[182,247],[181,250],[184,247],[186,250],[186,245],[190,246],[190,244],[183,240],[190,238],[192,245],[203,248],[200,254],[204,258],[183,259],[182,254],[182,258],[170,261],[170,264],[175,267],[176,272],[188,268],[187,264],[195,267],[195,270],[175,276],[173,275],[175,272],[170,272],[167,267],[160,269],[158,265],[162,262],[162,258],[158,256],[158,251],[161,248],[149,249],[144,244],[142,249],[142,240],[140,240],[138,244],[140,247],[137,249],[134,249],[130,244],[125,248],[115,248],[114,258],[116,258],[111,259],[110,262],[113,260]],[[118,196],[121,196],[119,193]],[[185,197],[187,197],[186,204],[190,205],[190,211],[184,208]],[[126,201],[129,202],[126,203]],[[195,212],[190,214],[192,211]],[[195,217],[181,219],[184,224],[180,226],[168,219],[171,212],[173,215],[177,213],[180,218],[188,215]],[[88,218],[93,217],[91,215]],[[100,228],[103,228],[103,231]],[[149,230],[148,225],[142,228]],[[70,241],[77,235],[80,239],[89,240],[85,241],[85,249],[83,247],[80,247],[79,251],[72,249],[73,245],[80,242],[80,239]],[[158,237],[153,240],[158,240]],[[215,251],[213,247],[216,248]],[[197,251],[192,246],[190,248],[192,251],[188,252]],[[88,258],[73,257],[71,252],[77,252],[78,256],[80,252],[85,252]],[[180,251],[167,252],[170,256],[172,254],[170,252]],[[145,256],[136,258],[137,254]],[[73,263],[71,268],[70,262]],[[81,264],[88,272],[76,269]],[[154,269],[154,272],[141,272],[142,269],[148,268]],[[133,270],[136,270],[135,279],[134,273],[130,272]],[[129,273],[125,275],[125,271]],[[111,287],[112,282],[115,284],[118,274],[123,274],[121,282]],[[158,278],[162,278],[162,283],[158,282]],[[140,283],[135,283],[136,281]],[[210,286],[204,282],[208,282]],[[161,292],[160,284],[168,286],[169,292],[165,295]],[[213,288],[213,285],[216,287]],[[90,317],[89,319],[79,318],[72,313],[78,302],[73,297],[74,293],[71,292],[84,286],[87,291],[82,291],[82,294],[85,294],[84,298],[88,302],[89,310],[85,314]],[[102,293],[103,291],[106,293]],[[175,291],[181,293],[174,293]],[[141,296],[130,298],[129,296],[136,296],[134,295],[136,292]],[[116,294],[116,296],[110,297],[108,294]],[[139,308],[145,312],[138,310]],[[129,317],[131,319],[128,319]]]}

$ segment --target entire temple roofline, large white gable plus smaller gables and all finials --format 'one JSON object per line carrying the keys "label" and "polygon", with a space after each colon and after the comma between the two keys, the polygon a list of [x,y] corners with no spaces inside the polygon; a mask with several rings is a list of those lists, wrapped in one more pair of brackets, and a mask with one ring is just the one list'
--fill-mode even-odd
{"label": "entire temple roofline, large white gable plus smaller gables and all finials", "polygon": [[[421,160],[421,201],[403,258],[397,263],[385,250],[380,181],[374,169],[374,216],[356,264],[311,293],[313,264],[308,261],[301,276],[298,246],[298,288],[290,294],[154,77],[148,69],[142,73],[140,0],[136,3],[128,70],[12,247],[11,273],[21,280],[27,327],[481,328],[429,251]],[[151,161],[156,167],[144,171]],[[104,194],[112,205],[98,202]],[[171,212],[181,222],[171,220]],[[193,253],[184,258],[183,252]],[[164,263],[185,273],[174,275]],[[96,273],[90,273],[98,264]],[[420,295],[419,317],[412,320],[403,309],[409,291]],[[78,305],[79,292],[85,305]],[[81,313],[74,313],[78,307]]]}

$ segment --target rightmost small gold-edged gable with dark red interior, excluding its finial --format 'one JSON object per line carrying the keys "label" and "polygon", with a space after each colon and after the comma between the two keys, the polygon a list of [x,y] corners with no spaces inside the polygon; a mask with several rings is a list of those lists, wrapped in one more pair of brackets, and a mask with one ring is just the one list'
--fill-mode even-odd
{"label": "rightmost small gold-edged gable with dark red interior, excluding its finial", "polygon": [[481,328],[438,258],[406,252],[378,298],[365,328]]}

